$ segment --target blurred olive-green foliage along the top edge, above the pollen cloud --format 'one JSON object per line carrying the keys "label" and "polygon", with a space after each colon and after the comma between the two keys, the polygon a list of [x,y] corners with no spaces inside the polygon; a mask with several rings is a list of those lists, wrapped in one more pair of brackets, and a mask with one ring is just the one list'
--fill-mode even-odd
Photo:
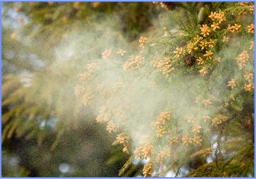
{"label": "blurred olive-green foliage along the top edge, above the pollen cloud", "polygon": [[129,5],[125,2],[6,2],[4,6],[15,6],[16,11],[24,14],[24,20],[29,19],[29,23],[16,33],[27,35],[37,46],[38,42],[46,44],[47,50],[57,46],[62,34],[78,20],[90,24],[104,19],[105,14],[112,14],[118,17],[119,27],[132,40],[152,25],[152,19],[157,14],[155,6],[147,2],[132,2]]}

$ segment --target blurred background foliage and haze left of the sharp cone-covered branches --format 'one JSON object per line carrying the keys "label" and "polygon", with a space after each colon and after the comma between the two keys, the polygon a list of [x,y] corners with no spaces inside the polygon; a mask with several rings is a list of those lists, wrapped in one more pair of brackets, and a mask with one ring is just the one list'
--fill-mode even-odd
{"label": "blurred background foliage and haze left of the sharp cone-covered branches", "polygon": [[[74,88],[86,60],[104,52],[98,44],[137,42],[164,11],[152,2],[2,2],[2,177],[118,176],[129,155]],[[135,161],[124,176],[142,167]]]}

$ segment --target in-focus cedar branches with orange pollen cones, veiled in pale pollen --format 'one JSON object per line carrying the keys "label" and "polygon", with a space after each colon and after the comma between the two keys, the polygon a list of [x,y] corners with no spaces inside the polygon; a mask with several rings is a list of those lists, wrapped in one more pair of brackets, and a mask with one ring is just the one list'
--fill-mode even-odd
{"label": "in-focus cedar branches with orange pollen cones, veiled in pale pollen", "polygon": [[182,166],[193,177],[254,175],[253,3],[175,5],[177,27],[141,36],[137,53],[107,49],[75,93],[99,108],[97,122],[119,133],[123,152],[149,159],[144,177],[179,176]]}

